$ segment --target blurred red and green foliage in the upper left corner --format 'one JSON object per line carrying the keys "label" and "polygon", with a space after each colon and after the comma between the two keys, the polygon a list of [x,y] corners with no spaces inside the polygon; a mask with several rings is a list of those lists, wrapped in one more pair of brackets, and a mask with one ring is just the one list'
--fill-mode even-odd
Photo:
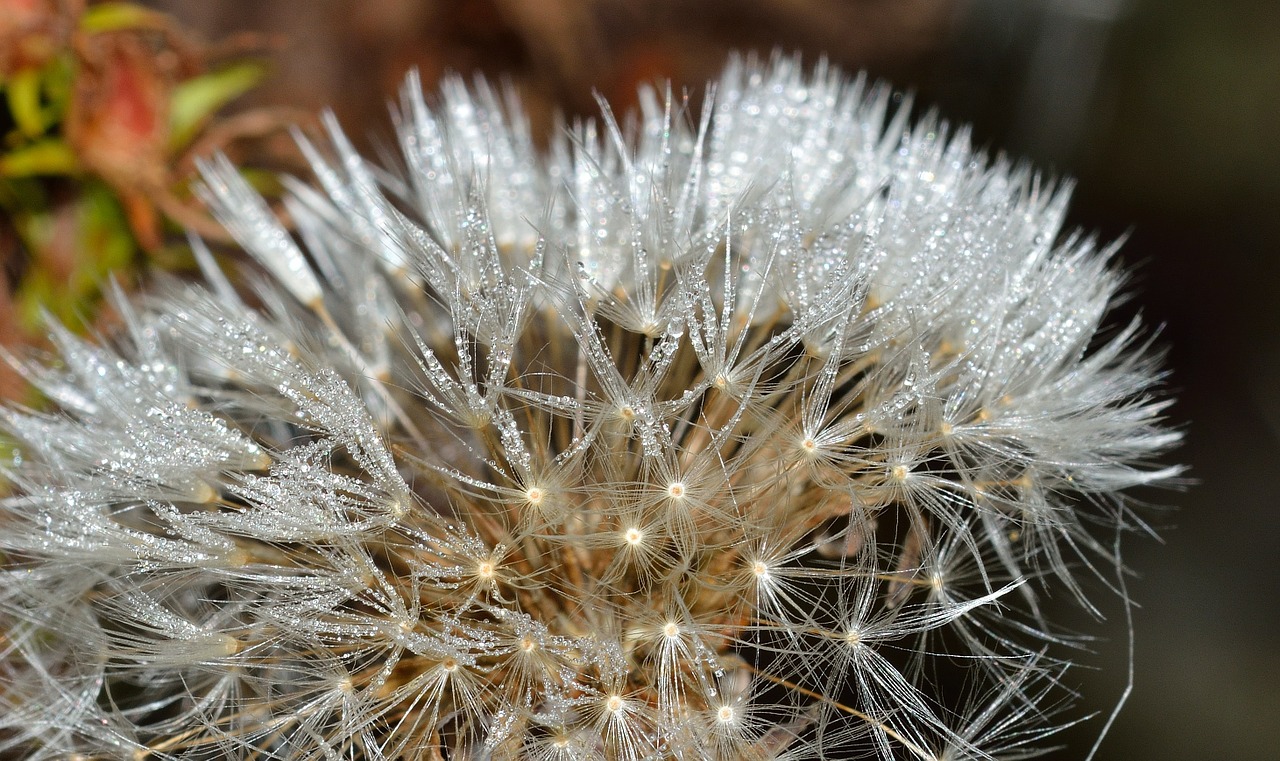
{"label": "blurred red and green foliage in the upper left corner", "polygon": [[[269,47],[131,3],[0,0],[0,344],[38,343],[44,310],[95,322],[109,274],[177,263],[182,229],[225,238],[187,188],[193,160],[308,118],[218,116]],[[0,398],[20,388],[0,366]]]}

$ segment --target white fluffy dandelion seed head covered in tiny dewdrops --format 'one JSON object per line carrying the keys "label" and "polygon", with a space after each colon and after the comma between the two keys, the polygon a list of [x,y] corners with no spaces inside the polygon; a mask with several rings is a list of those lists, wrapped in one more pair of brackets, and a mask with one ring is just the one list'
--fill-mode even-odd
{"label": "white fluffy dandelion seed head covered in tiny dewdrops", "polygon": [[296,233],[209,162],[247,286],[193,240],[202,284],[20,363],[55,408],[3,413],[0,753],[988,758],[1074,720],[1038,600],[1088,605],[1179,436],[1065,183],[782,56],[547,152],[483,81],[411,75],[396,125],[399,169],[300,136]]}

